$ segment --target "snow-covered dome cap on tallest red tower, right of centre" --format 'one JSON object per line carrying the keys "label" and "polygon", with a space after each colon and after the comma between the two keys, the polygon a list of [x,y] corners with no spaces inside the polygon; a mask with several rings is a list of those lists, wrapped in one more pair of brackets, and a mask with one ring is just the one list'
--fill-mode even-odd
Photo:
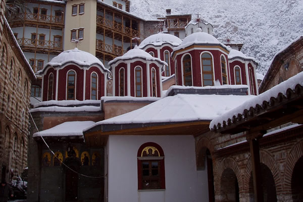
{"label": "snow-covered dome cap on tallest red tower, right of centre", "polygon": [[[200,28],[198,28],[200,29]],[[200,29],[201,30],[201,29]],[[208,33],[205,33],[205,32],[195,32],[195,33],[192,33],[188,36],[186,36],[181,45],[184,45],[184,44],[187,44],[187,43],[220,43],[218,41],[218,39],[216,39],[214,36],[208,34]]]}

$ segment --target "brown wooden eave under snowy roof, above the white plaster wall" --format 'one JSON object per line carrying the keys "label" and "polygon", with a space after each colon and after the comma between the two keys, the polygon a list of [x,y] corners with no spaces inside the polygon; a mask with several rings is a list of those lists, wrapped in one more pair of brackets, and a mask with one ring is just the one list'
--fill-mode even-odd
{"label": "brown wooden eave under snowy roof, above the white plaster wall", "polygon": [[209,121],[144,124],[103,124],[84,132],[89,146],[104,146],[109,135],[193,135],[210,131]]}

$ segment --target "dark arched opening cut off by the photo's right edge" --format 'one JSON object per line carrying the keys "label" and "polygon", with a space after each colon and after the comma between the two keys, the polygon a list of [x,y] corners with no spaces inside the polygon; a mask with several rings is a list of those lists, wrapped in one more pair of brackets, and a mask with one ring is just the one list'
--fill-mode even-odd
{"label": "dark arched opening cut off by the photo's right edge", "polygon": [[303,201],[303,157],[294,165],[291,176],[291,195],[292,201]]}

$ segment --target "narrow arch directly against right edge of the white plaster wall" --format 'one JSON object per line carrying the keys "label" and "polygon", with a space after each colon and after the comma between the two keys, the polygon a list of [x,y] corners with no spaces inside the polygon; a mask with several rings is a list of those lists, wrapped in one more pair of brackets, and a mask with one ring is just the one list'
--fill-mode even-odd
{"label": "narrow arch directly against right edge of the white plaster wall", "polygon": [[211,140],[207,137],[202,137],[201,139],[198,140],[195,147],[197,170],[199,170],[199,168],[203,170],[205,167],[204,163],[205,163],[207,149],[209,149],[211,156],[213,158],[215,149]]}

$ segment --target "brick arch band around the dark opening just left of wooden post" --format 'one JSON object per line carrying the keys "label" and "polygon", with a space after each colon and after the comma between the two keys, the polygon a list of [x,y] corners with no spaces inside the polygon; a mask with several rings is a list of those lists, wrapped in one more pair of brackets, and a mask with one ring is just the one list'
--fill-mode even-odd
{"label": "brick arch band around the dark opening just left of wooden post", "polygon": [[221,177],[226,169],[231,169],[234,172],[238,180],[239,191],[243,190],[243,180],[241,176],[241,171],[239,169],[239,166],[237,165],[237,162],[231,157],[223,159],[223,161],[221,161],[218,165],[216,169],[217,175],[215,177],[215,189],[217,191],[221,190]]}

